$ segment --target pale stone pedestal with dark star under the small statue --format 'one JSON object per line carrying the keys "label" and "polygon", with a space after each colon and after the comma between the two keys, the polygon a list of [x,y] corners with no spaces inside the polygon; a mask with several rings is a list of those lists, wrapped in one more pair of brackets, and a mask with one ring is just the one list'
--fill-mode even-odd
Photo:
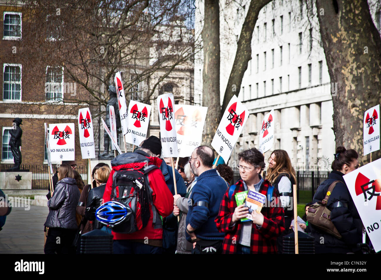
{"label": "pale stone pedestal with dark star under the small statue", "polygon": [[0,172],[0,186],[2,190],[31,190],[32,172],[10,171]]}

